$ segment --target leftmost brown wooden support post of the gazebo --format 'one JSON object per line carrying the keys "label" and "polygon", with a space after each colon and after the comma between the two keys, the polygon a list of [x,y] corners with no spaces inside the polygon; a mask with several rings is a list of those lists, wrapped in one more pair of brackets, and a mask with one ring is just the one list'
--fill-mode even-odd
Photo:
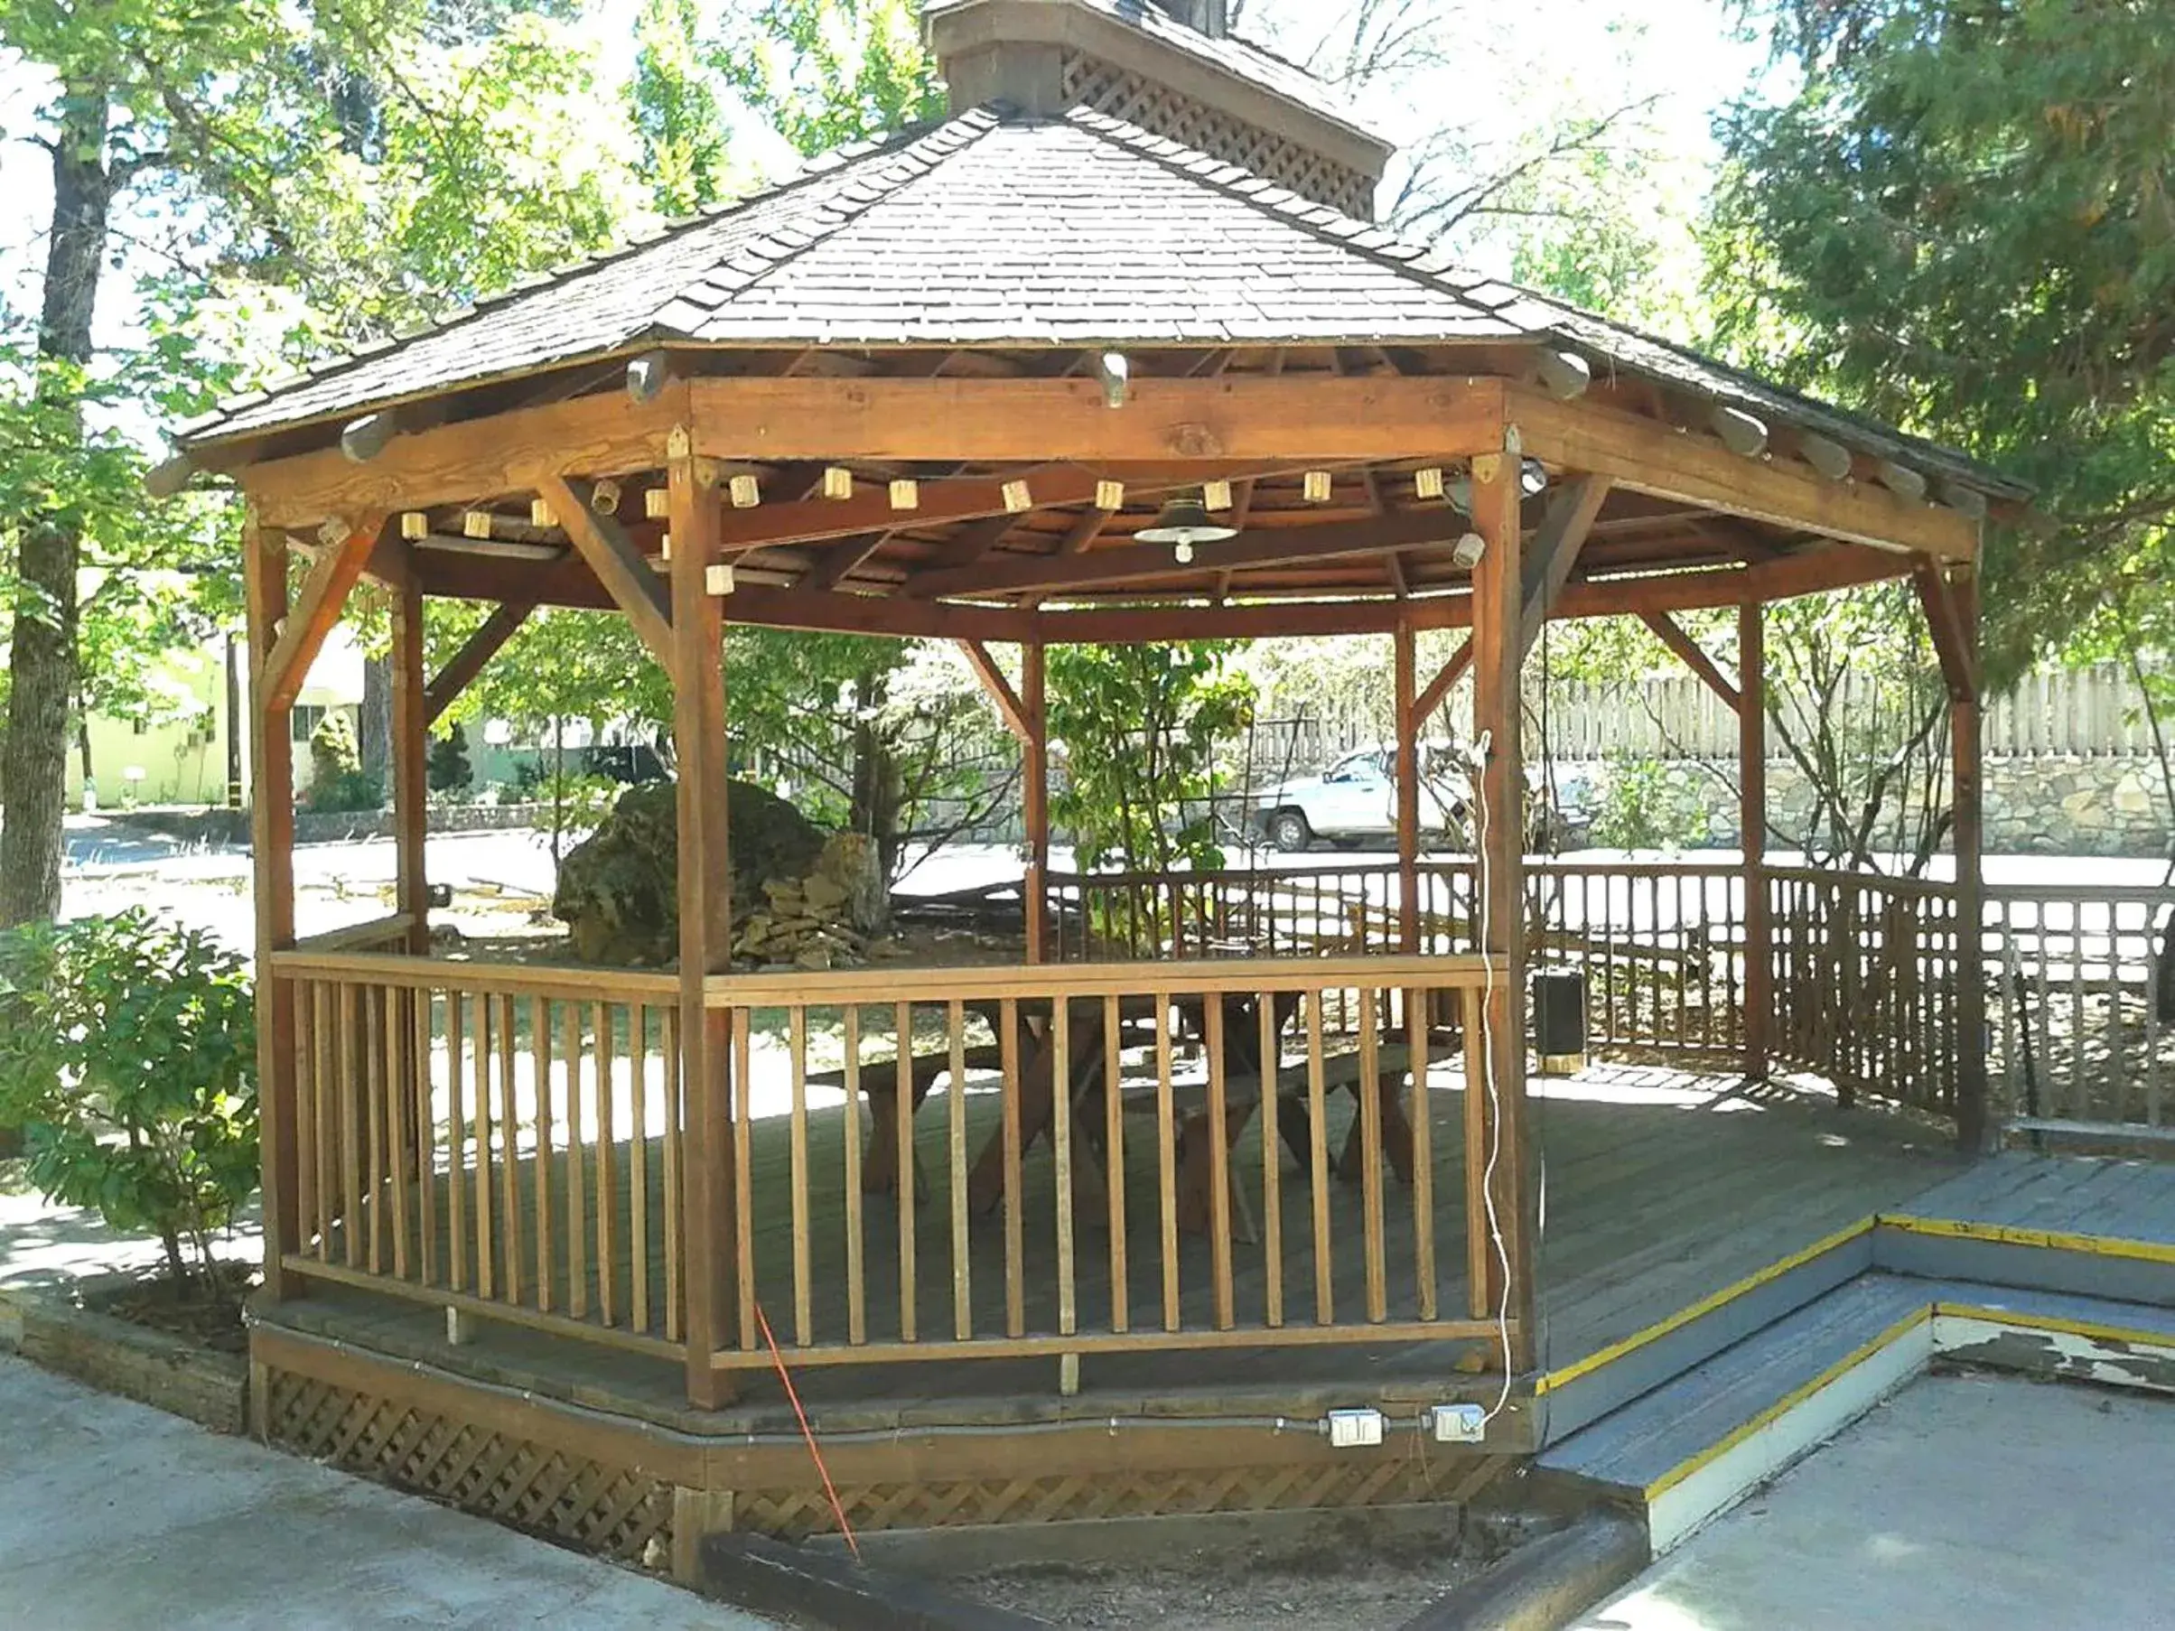
{"label": "leftmost brown wooden support post of the gazebo", "polygon": [[272,953],[294,946],[291,698],[270,683],[287,618],[287,535],[250,526],[241,544],[250,622],[250,866],[257,894],[257,1100],[261,1116],[265,1296],[302,1287],[285,1266],[302,1250],[296,1168],[294,987],[272,979]]}

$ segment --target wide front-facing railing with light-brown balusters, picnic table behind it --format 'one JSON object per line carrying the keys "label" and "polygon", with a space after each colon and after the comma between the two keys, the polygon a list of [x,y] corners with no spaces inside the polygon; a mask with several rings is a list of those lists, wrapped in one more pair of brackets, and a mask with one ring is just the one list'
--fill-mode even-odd
{"label": "wide front-facing railing with light-brown balusters, picnic table behind it", "polygon": [[716,1364],[770,1364],[757,1309],[796,1364],[1483,1335],[1475,1250],[1470,1318],[1444,1318],[1438,1209],[1486,1242],[1455,1227],[1483,1135],[1442,1137],[1409,1090],[1451,1053],[1418,1016],[1479,983],[1462,959],[927,970],[874,1003],[859,972],[718,981],[755,1092]]}

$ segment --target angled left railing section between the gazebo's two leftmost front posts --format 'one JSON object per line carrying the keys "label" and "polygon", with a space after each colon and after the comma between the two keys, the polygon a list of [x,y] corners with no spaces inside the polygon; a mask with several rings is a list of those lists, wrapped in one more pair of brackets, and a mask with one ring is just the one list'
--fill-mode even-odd
{"label": "angled left railing section between the gazebo's two leftmost front posts", "polygon": [[681,1340],[670,976],[296,950],[304,1277],[652,1353]]}

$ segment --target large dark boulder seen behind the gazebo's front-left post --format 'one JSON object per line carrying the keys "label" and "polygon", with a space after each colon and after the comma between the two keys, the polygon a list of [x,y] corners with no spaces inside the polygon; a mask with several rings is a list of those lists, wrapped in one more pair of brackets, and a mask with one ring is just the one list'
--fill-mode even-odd
{"label": "large dark boulder seen behind the gazebo's front-left post", "polygon": [[[776,794],[726,783],[733,852],[733,922],[766,911],[781,885],[822,907],[826,922],[859,935],[883,926],[887,892],[872,848],[853,833],[824,833]],[[620,794],[605,824],[559,866],[552,916],[585,963],[655,966],[679,955],[679,789],[648,783]]]}

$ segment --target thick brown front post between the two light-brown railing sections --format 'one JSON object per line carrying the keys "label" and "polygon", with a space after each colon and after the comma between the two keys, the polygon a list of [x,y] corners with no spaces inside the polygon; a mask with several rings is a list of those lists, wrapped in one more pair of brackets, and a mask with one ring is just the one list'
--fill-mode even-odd
{"label": "thick brown front post between the two light-brown railing sections", "polygon": [[[729,1013],[709,1007],[705,979],[731,966],[733,868],[724,787],[724,611],[709,594],[718,559],[720,507],[713,481],[689,452],[685,431],[668,444],[666,487],[672,526],[672,744],[679,757],[679,918],[681,918],[681,1092],[685,1098],[685,1181],[681,1229],[687,1263],[687,1403],[731,1403],[729,1372],[713,1357],[733,1342],[733,1094]],[[652,618],[652,624],[661,618]]]}

